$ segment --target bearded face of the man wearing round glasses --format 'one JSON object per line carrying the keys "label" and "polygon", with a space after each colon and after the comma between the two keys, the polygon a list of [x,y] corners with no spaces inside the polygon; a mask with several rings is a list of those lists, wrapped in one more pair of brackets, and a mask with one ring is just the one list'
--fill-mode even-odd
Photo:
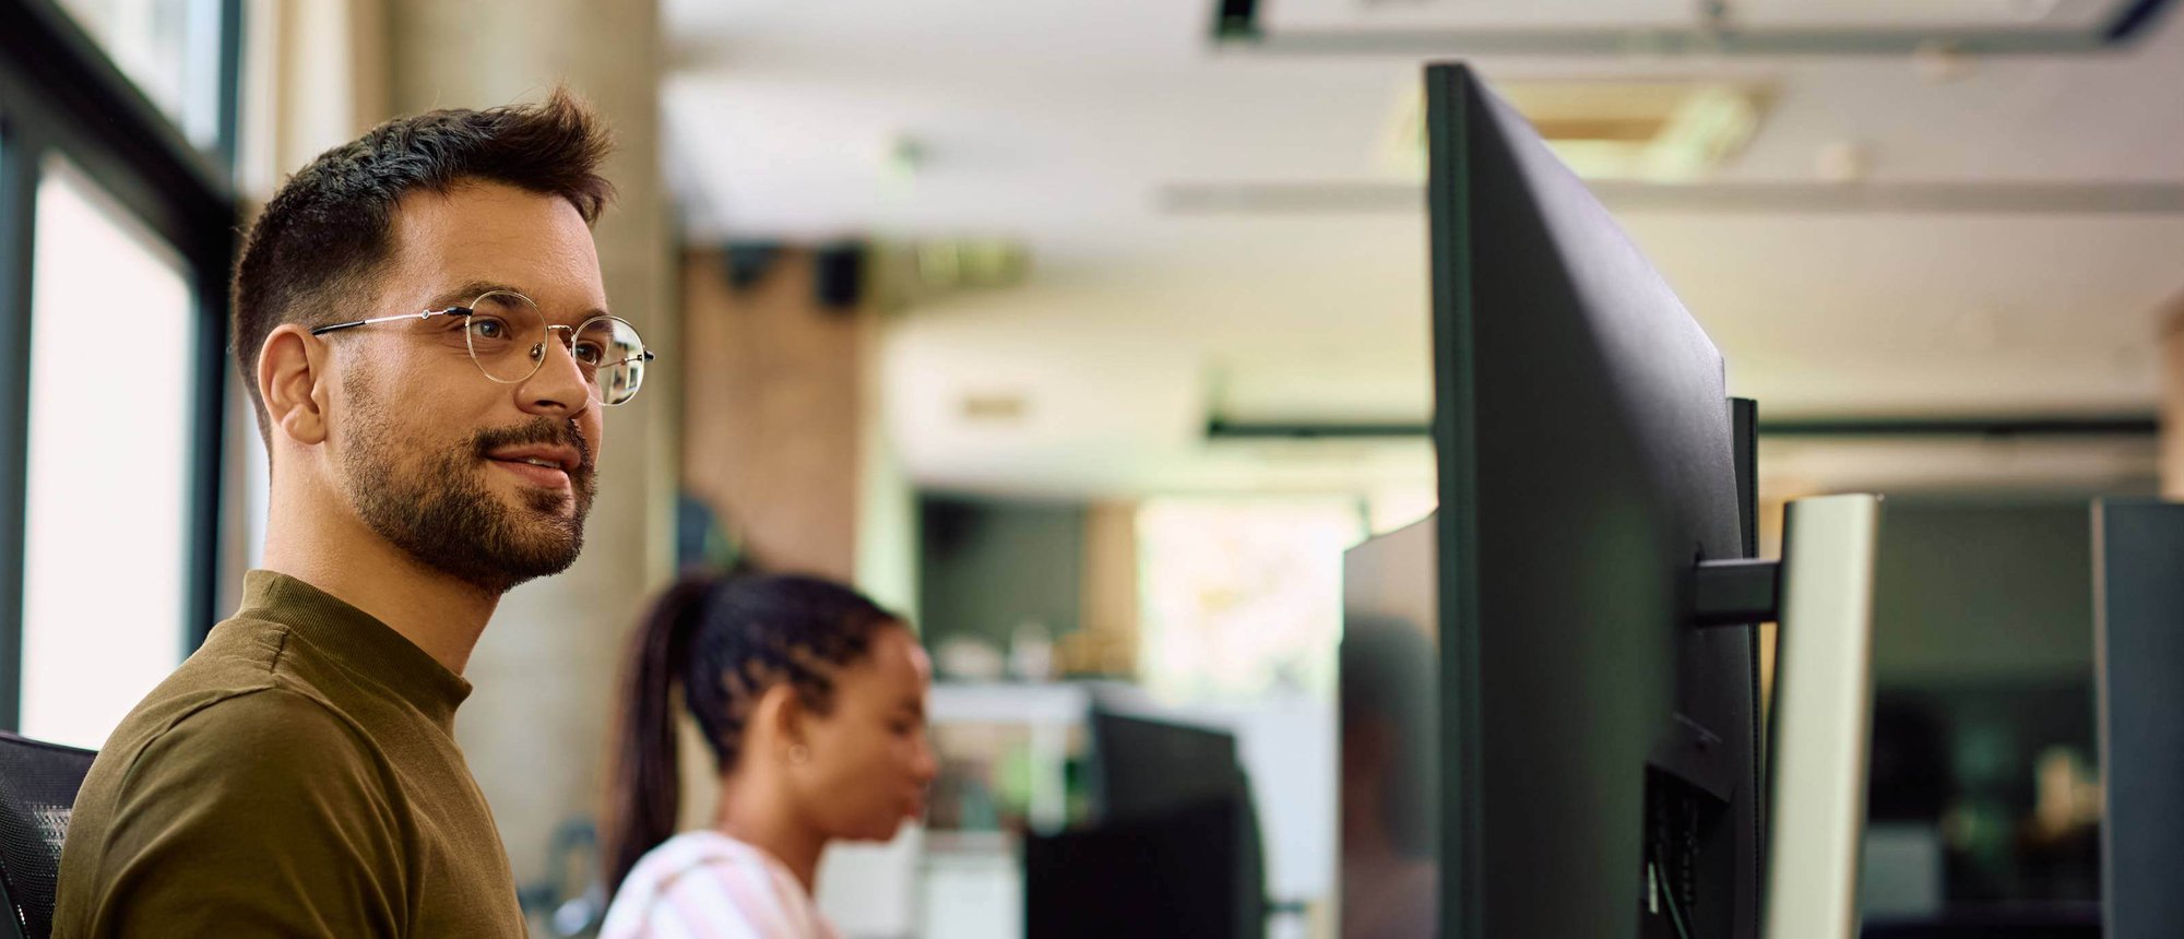
{"label": "bearded face of the man wearing round glasses", "polygon": [[[413,192],[393,240],[371,317],[470,306],[494,288],[531,297],[550,325],[607,308],[592,231],[559,197],[500,183]],[[459,317],[336,343],[332,441],[358,518],[419,563],[489,592],[568,570],[583,548],[603,428],[561,336],[520,382],[478,371]]]}

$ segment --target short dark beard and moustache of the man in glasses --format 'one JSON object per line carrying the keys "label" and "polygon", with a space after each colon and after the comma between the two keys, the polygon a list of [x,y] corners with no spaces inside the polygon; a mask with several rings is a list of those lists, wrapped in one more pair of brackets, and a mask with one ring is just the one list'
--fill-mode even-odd
{"label": "short dark beard and moustache of the man in glasses", "polygon": [[[535,577],[550,577],[577,563],[583,550],[583,520],[592,511],[592,448],[574,421],[535,417],[509,428],[487,428],[454,448],[404,472],[391,445],[395,435],[387,408],[363,382],[352,380],[356,432],[343,450],[349,504],[371,531],[417,563],[454,577],[494,596]],[[358,395],[358,391],[365,391]],[[568,472],[572,496],[522,489],[522,507],[511,509],[487,485],[487,454],[509,445],[561,443],[577,450]],[[574,498],[566,518],[561,507]]]}

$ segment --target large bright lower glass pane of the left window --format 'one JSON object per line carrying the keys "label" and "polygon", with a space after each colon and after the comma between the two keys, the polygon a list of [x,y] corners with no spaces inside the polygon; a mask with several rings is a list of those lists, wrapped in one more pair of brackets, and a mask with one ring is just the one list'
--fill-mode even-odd
{"label": "large bright lower glass pane of the left window", "polygon": [[181,659],[190,280],[63,162],[37,188],[22,732],[98,747]]}

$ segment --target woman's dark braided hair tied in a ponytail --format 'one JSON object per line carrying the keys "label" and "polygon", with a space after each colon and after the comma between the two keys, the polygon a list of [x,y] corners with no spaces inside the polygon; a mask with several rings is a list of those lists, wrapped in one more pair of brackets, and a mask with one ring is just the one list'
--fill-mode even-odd
{"label": "woman's dark braided hair tied in a ponytail", "polygon": [[653,603],[631,638],[622,716],[607,793],[607,887],[675,832],[681,808],[673,688],[697,718],[714,764],[743,760],[758,699],[786,684],[815,714],[834,705],[834,673],[856,664],[871,638],[902,618],[817,577],[692,574]]}

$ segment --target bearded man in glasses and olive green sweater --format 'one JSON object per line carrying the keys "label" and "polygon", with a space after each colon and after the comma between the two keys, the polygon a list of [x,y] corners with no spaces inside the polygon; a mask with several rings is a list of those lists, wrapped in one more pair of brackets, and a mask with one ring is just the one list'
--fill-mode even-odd
{"label": "bearded man in glasses and olive green sweater", "polygon": [[605,314],[609,146],[566,92],[435,111],[266,205],[234,330],[264,570],[92,764],[57,937],[524,935],[452,723],[500,596],[577,559],[651,358]]}

